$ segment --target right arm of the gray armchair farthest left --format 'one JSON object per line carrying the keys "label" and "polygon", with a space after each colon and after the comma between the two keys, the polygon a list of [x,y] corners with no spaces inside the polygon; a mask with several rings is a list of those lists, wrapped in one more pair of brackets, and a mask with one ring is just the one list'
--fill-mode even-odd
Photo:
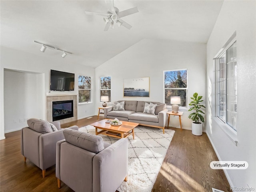
{"label": "right arm of the gray armchair farthest left", "polygon": [[39,138],[40,169],[56,164],[56,143],[64,139],[63,129],[42,134]]}

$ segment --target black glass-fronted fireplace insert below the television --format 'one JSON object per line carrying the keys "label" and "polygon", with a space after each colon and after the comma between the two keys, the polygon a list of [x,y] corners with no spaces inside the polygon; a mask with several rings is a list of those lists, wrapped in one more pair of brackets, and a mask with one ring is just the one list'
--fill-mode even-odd
{"label": "black glass-fronted fireplace insert below the television", "polygon": [[52,121],[66,119],[73,116],[73,100],[52,102]]}

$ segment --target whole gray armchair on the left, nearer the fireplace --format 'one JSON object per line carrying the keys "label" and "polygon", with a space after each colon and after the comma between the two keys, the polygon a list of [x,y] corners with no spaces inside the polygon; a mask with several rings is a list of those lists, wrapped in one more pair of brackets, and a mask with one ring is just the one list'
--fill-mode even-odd
{"label": "whole gray armchair on the left, nearer the fireplace", "polygon": [[[46,169],[56,164],[56,143],[64,139],[60,122],[52,122],[55,131],[44,120],[29,119],[28,127],[21,130],[21,154],[24,162],[28,158],[32,163],[42,169],[45,177]],[[71,126],[78,130],[78,126]]]}

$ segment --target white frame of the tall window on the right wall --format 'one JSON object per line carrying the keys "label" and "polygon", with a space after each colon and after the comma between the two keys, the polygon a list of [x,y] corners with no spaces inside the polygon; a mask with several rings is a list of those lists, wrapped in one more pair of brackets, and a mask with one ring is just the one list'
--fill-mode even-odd
{"label": "white frame of the tall window on the right wall", "polygon": [[[220,127],[225,131],[225,133],[231,137],[233,140],[237,140],[236,139],[236,134],[237,134],[237,127],[236,129],[234,129],[227,121],[227,105],[228,105],[228,102],[227,102],[227,89],[228,89],[228,86],[227,86],[227,80],[228,80],[228,77],[227,77],[227,74],[228,74],[228,70],[227,70],[227,50],[229,48],[231,48],[231,46],[233,46],[234,43],[237,43],[236,42],[236,36],[232,36],[232,38],[230,40],[228,40],[228,42],[224,45],[224,47],[219,51],[219,53],[216,55],[216,57],[214,58],[215,62],[216,62],[216,66],[215,66],[215,78],[216,78],[216,95],[215,95],[215,121],[220,125]],[[219,88],[220,88],[220,84],[219,84],[219,78],[220,78],[220,70],[219,70],[219,59],[225,55],[225,90],[226,90],[226,93],[225,93],[225,119],[223,120],[222,118],[219,117],[219,106],[220,106],[220,94],[219,94]],[[237,53],[236,53],[236,58],[237,58]],[[236,61],[237,62],[237,61]],[[237,68],[237,64],[236,64],[236,68]],[[236,77],[237,78],[237,77]],[[236,79],[237,80],[237,79]],[[237,97],[237,89],[236,89],[236,97]],[[237,113],[237,112],[236,112]],[[236,118],[237,120],[237,118]]]}

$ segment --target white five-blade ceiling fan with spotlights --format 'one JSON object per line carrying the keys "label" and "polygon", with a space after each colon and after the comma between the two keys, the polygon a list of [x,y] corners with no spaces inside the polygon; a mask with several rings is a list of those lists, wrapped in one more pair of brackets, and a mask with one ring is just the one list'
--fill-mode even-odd
{"label": "white five-blade ceiling fan with spotlights", "polygon": [[114,28],[114,24],[117,24],[118,26],[124,26],[128,29],[132,28],[130,24],[126,23],[124,20],[120,18],[139,12],[137,7],[119,12],[119,9],[114,7],[114,0],[113,0],[113,4],[109,0],[105,0],[105,3],[108,8],[107,13],[90,12],[90,11],[85,11],[85,13],[90,15],[104,16],[103,20],[106,23],[104,31],[107,31],[110,27]]}

